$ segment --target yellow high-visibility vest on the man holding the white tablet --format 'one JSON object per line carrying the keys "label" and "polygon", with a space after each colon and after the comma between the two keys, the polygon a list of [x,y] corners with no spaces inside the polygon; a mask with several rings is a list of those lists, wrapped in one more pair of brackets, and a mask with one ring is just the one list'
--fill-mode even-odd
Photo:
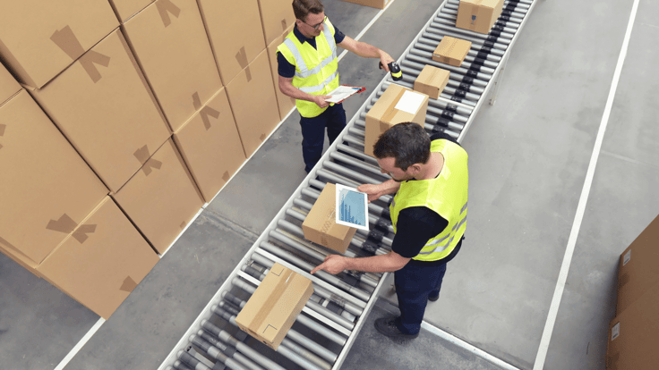
{"label": "yellow high-visibility vest on the man holding the white tablet", "polygon": [[466,198],[469,188],[465,149],[446,139],[433,140],[431,152],[444,156],[440,175],[431,180],[404,181],[389,206],[396,231],[398,214],[410,206],[426,206],[449,220],[440,234],[428,240],[413,259],[436,261],[449,256],[466,230]]}

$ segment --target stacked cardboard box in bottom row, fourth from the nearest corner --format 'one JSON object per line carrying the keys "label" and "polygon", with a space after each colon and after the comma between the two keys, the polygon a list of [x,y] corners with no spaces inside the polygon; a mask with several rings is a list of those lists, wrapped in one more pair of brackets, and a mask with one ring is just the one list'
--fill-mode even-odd
{"label": "stacked cardboard box in bottom row, fourth from the nearest corner", "polygon": [[263,50],[227,85],[227,96],[247,158],[280,122],[269,63]]}

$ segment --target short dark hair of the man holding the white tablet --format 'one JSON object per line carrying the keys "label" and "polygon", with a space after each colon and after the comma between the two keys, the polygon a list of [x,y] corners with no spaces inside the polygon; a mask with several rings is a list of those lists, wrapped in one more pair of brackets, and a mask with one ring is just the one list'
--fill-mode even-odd
{"label": "short dark hair of the man holding the white tablet", "polygon": [[430,159],[430,137],[415,122],[403,122],[384,131],[373,145],[373,155],[396,159],[398,168],[407,171],[412,164],[426,164]]}

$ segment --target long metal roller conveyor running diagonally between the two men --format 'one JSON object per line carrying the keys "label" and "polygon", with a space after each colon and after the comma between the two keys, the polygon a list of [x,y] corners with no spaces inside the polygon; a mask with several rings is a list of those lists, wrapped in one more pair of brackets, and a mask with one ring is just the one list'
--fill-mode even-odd
{"label": "long metal roller conveyor running diagonally between the two men", "polygon": [[[403,80],[389,74],[374,88],[364,105],[312,172],[295,190],[252,248],[235,266],[209,304],[172,349],[158,370],[329,370],[338,369],[347,357],[366,316],[371,312],[388,273],[324,271],[309,274],[330,253],[328,248],[304,239],[302,223],[327,183],[357,187],[388,180],[377,161],[364,155],[367,112],[391,83],[412,88],[425,64],[450,71],[449,83],[438,99],[429,99],[424,127],[445,132],[461,141],[481,105],[490,96],[509,58],[511,46],[535,6],[535,0],[504,2],[501,17],[484,35],[455,27],[458,0],[446,0],[432,15],[405,53],[398,59]],[[432,52],[445,36],[472,42],[465,61],[454,67],[432,60]],[[389,253],[394,237],[389,219],[391,196],[369,204],[370,231],[358,230],[346,256]],[[275,263],[313,282],[312,298],[278,350],[266,347],[240,331],[235,316]]]}

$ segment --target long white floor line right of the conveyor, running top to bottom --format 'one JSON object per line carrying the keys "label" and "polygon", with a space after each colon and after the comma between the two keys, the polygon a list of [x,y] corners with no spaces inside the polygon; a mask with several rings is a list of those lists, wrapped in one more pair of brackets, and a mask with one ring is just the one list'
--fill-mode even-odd
{"label": "long white floor line right of the conveyor, running top to bottom", "polygon": [[533,366],[533,370],[543,369],[544,361],[547,357],[547,350],[549,349],[549,342],[552,340],[553,327],[554,324],[556,324],[556,316],[558,315],[559,307],[561,306],[561,298],[563,296],[563,290],[565,289],[565,282],[568,280],[569,265],[572,262],[572,256],[574,254],[575,245],[577,244],[579,229],[581,228],[584,213],[586,212],[586,203],[588,201],[588,195],[590,194],[590,188],[593,185],[595,166],[597,165],[597,159],[599,158],[600,151],[602,149],[604,132],[606,131],[606,126],[609,123],[609,116],[611,115],[613,99],[615,98],[615,92],[618,88],[618,82],[620,81],[622,65],[625,63],[625,57],[627,56],[629,38],[631,37],[631,29],[634,27],[634,20],[636,19],[637,11],[638,0],[634,0],[634,4],[631,7],[631,15],[629,16],[629,23],[627,24],[627,32],[625,33],[625,38],[620,49],[618,64],[616,65],[615,72],[613,73],[613,80],[611,89],[609,90],[609,97],[607,98],[606,105],[604,107],[604,114],[602,116],[602,121],[600,122],[600,129],[597,131],[597,138],[595,139],[593,155],[590,157],[590,164],[588,164],[586,181],[584,182],[584,188],[581,190],[581,197],[579,198],[579,203],[577,206],[577,214],[575,216],[574,223],[572,223],[572,231],[569,232],[568,248],[565,249],[565,256],[563,256],[563,263],[561,265],[561,272],[559,273],[558,282],[556,282],[556,289],[553,292],[552,305],[549,307],[549,315],[547,315],[547,321],[544,324],[543,336],[540,340],[540,347],[538,348],[538,352],[535,357],[535,365]]}

